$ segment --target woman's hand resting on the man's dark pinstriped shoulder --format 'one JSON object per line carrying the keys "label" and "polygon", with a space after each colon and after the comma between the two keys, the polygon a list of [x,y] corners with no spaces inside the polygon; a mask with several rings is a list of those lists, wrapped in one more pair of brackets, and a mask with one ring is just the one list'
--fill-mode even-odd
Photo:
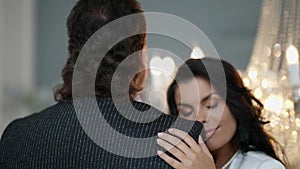
{"label": "woman's hand resting on the man's dark pinstriped shoulder", "polygon": [[[170,134],[159,133],[157,143],[165,150],[169,151],[177,159],[174,159],[162,151],[158,151],[158,156],[176,169],[215,169],[213,157],[208,151],[201,136],[199,144],[187,134],[178,129],[169,129]],[[174,137],[176,136],[176,137]],[[178,137],[178,138],[177,138]],[[181,141],[183,140],[183,141]]]}

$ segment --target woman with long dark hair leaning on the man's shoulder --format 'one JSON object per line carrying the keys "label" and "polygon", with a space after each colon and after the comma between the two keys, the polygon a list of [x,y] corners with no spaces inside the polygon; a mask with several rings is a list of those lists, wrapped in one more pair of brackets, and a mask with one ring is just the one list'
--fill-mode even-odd
{"label": "woman with long dark hair leaning on the man's shoulder", "polygon": [[196,143],[186,133],[159,133],[158,155],[174,168],[284,169],[276,153],[280,145],[268,135],[261,116],[263,104],[246,88],[228,62],[190,59],[167,91],[170,113],[204,124],[206,139]]}

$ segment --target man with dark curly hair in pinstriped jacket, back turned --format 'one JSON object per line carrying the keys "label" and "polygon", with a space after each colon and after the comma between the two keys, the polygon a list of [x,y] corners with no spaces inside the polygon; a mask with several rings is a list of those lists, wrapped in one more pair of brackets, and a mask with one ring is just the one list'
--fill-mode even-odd
{"label": "man with dark curly hair in pinstriped jacket, back turned", "polygon": [[[120,32],[106,29],[98,34],[105,25],[132,14],[139,16],[118,29],[138,34],[120,39],[113,46],[106,42],[118,39]],[[201,125],[192,123],[191,126],[190,121],[164,115],[135,101],[147,74],[146,21],[138,2],[79,0],[68,16],[67,29],[69,57],[62,70],[63,83],[54,91],[58,103],[9,124],[0,141],[0,168],[171,168],[156,155],[157,133],[172,125],[190,131],[196,138]],[[99,41],[89,40],[94,35]],[[88,42],[92,45],[86,45]],[[84,55],[83,48],[94,54],[109,50],[98,65],[97,57]],[[131,59],[122,65],[124,71],[121,71],[125,75],[114,75],[128,56]],[[87,83],[93,77],[89,73],[95,69],[94,83]],[[127,70],[139,71],[127,76]],[[74,78],[75,71],[81,73],[77,78]],[[113,78],[116,78],[115,87],[111,85]],[[129,84],[128,90],[122,88],[124,84]],[[93,92],[89,92],[89,88],[93,88]],[[74,90],[79,94],[75,95]],[[119,112],[112,92],[121,100],[130,98],[131,104],[121,106],[122,112]],[[97,106],[90,101],[95,98]],[[148,116],[143,114],[145,111]],[[135,121],[125,118],[126,114]],[[151,119],[149,115],[156,118],[141,122]],[[149,141],[150,138],[154,141]]]}

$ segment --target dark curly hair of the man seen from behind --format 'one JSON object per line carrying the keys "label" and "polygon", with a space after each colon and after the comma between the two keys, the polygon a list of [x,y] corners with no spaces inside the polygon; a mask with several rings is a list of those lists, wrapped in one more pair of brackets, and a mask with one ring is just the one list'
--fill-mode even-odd
{"label": "dark curly hair of the man seen from behind", "polygon": [[[61,72],[63,83],[58,85],[54,90],[54,98],[56,101],[63,101],[72,98],[72,83],[80,83],[73,81],[74,66],[79,53],[87,42],[87,40],[101,27],[113,20],[127,16],[130,14],[142,13],[140,5],[135,0],[79,0],[71,10],[67,19],[68,30],[68,60]],[[131,24],[130,29],[139,29],[146,31],[146,21],[143,16],[139,22]],[[145,32],[144,31],[144,32]],[[117,32],[105,32],[109,38],[118,38]],[[128,56],[133,55],[137,59],[132,59],[128,66],[141,66],[141,52],[145,46],[146,34],[138,34],[123,39],[112,47],[103,58],[95,80],[95,94],[102,98],[111,97],[111,80],[118,65]],[[102,44],[106,45],[105,41]],[[88,59],[88,58],[86,58]],[[92,62],[89,60],[88,62]],[[77,64],[78,65],[78,64]],[[76,65],[76,66],[77,66]],[[79,68],[85,71],[86,68]],[[123,78],[123,79],[122,79]],[[118,79],[121,83],[129,80],[129,93],[132,99],[143,89],[143,82],[146,78],[146,71],[137,73],[133,79],[122,77]],[[126,79],[127,78],[127,79]],[[80,79],[84,81],[84,77]],[[82,89],[84,90],[84,89]]]}

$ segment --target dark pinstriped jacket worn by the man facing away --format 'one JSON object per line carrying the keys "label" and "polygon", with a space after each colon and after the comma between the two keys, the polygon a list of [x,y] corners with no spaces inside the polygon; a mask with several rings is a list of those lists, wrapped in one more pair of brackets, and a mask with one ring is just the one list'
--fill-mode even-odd
{"label": "dark pinstriped jacket worn by the man facing away", "polygon": [[[83,116],[75,113],[73,101],[65,101],[9,124],[0,141],[0,168],[171,168],[155,154],[148,156],[159,149],[156,142],[141,143],[131,139],[133,144],[129,144],[130,141],[116,144],[115,140],[123,138],[120,134],[137,139],[155,137],[169,127],[185,130],[197,139],[202,130],[200,123],[163,115],[143,103],[135,102],[133,106],[140,111],[148,110],[146,118],[153,115],[155,120],[146,123],[128,120],[119,113],[120,109],[116,109],[111,99],[98,99],[97,107],[90,106],[88,100],[78,103],[86,111]],[[107,124],[117,132],[102,130],[105,126],[95,120],[99,118],[96,109],[101,110]],[[130,106],[121,106],[121,109],[135,120],[145,117],[144,112],[133,113]],[[84,130],[86,127],[92,131]],[[111,150],[120,151],[118,154]],[[137,150],[143,150],[145,157],[135,157]]]}

